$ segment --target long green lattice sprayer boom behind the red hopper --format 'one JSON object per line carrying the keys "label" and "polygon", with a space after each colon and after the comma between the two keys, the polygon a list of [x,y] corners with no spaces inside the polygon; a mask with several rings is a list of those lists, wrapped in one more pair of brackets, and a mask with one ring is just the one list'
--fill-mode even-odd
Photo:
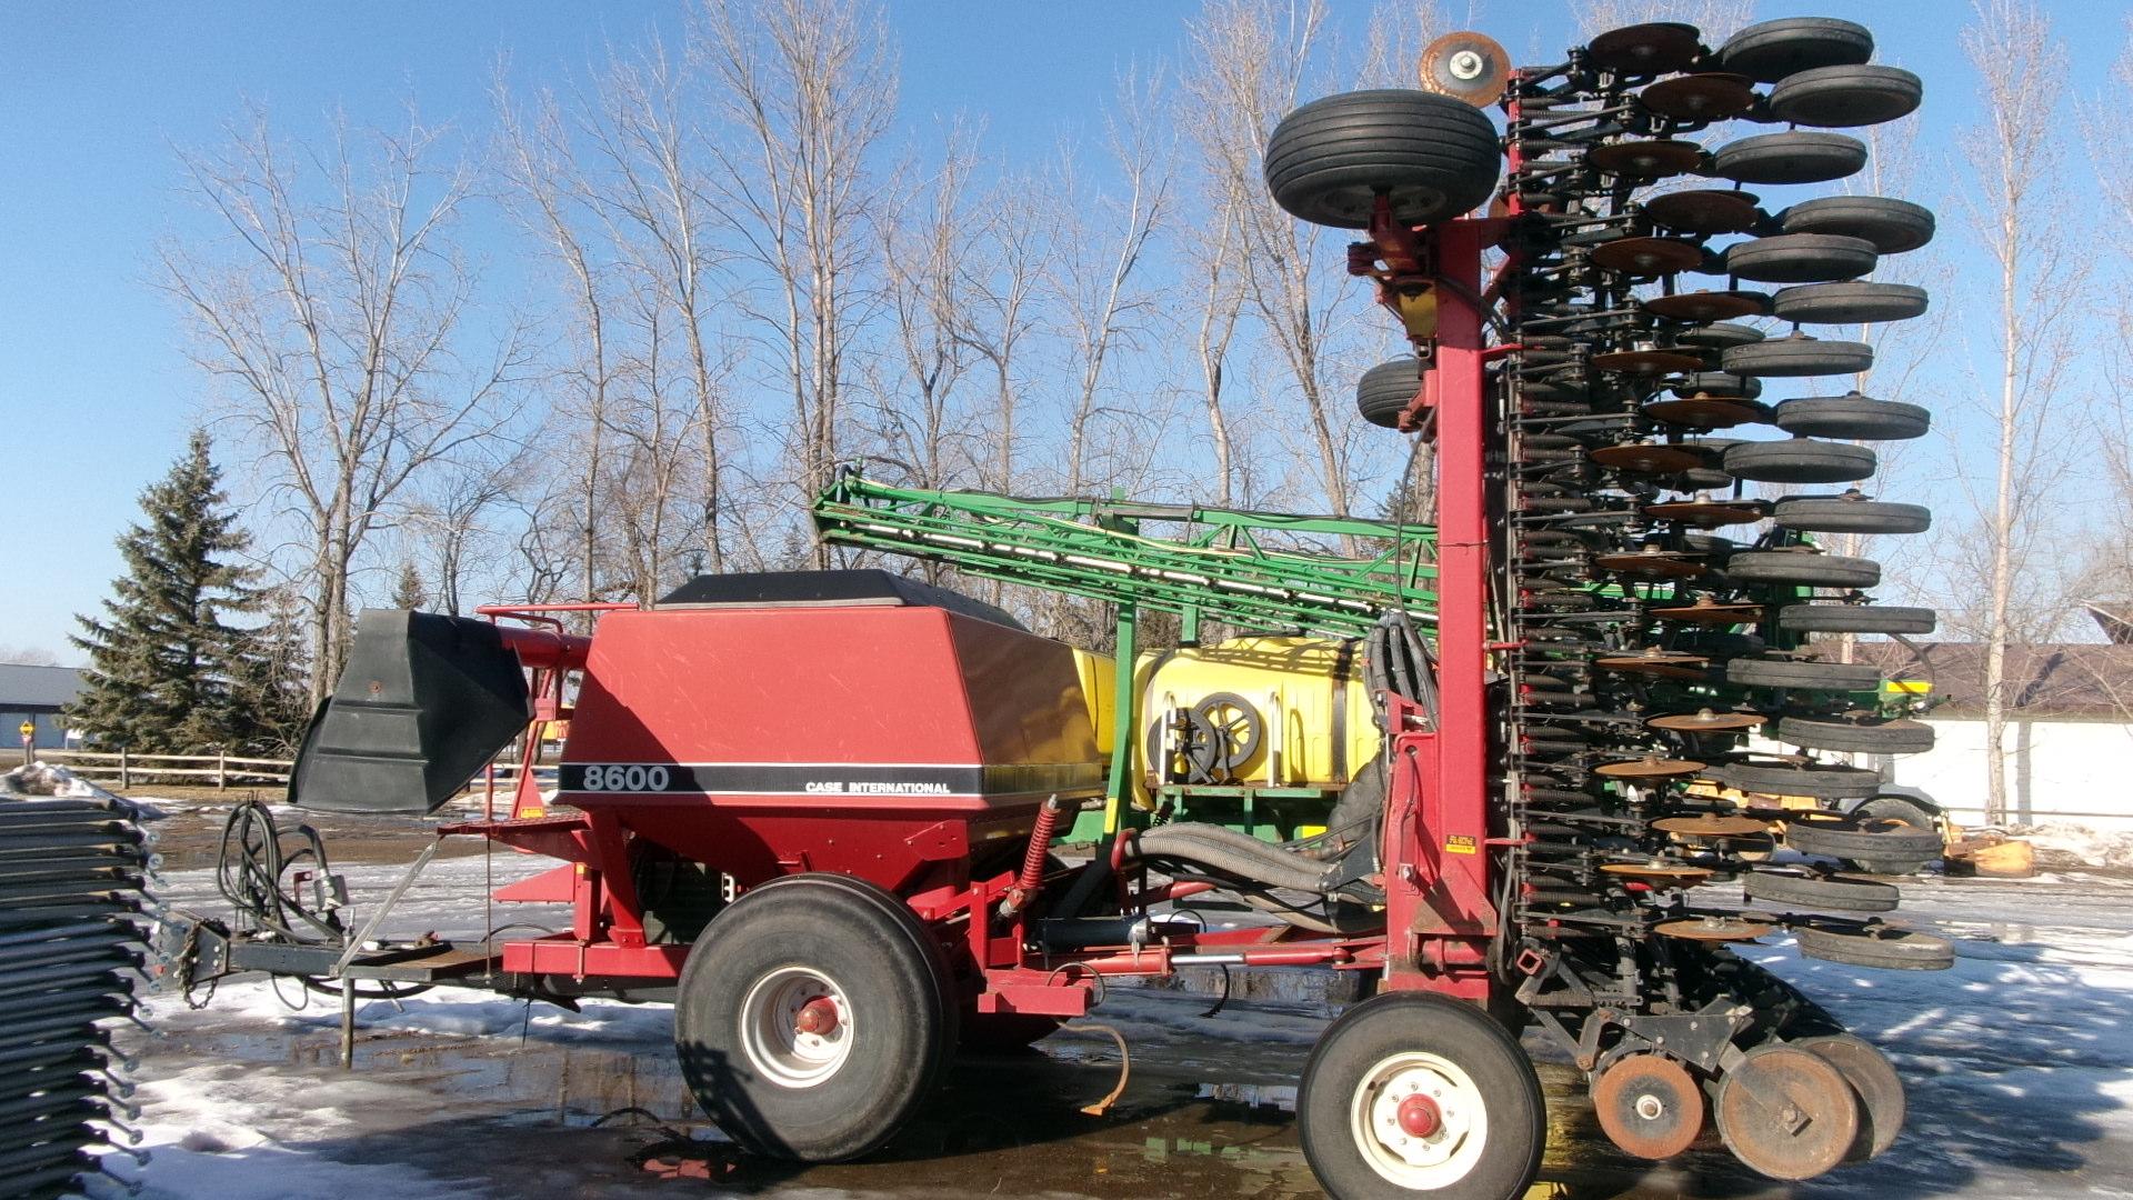
{"label": "long green lattice sprayer boom behind the red hopper", "polygon": [[1433,621],[1438,604],[1429,525],[1024,500],[845,472],[815,498],[815,527],[834,544],[1239,630],[1363,636],[1386,609]]}

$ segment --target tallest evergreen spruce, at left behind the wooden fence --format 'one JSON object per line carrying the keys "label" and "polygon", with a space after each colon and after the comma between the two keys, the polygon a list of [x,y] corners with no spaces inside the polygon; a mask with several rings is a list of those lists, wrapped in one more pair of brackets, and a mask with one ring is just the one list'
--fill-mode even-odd
{"label": "tallest evergreen spruce, at left behind the wooden fence", "polygon": [[209,448],[196,429],[186,457],[141,493],[145,521],[119,538],[126,574],[111,583],[105,619],[75,617],[90,673],[66,717],[102,745],[205,754],[258,741],[239,685],[264,651],[256,630],[224,621],[258,609],[254,572],[235,562],[250,536]]}

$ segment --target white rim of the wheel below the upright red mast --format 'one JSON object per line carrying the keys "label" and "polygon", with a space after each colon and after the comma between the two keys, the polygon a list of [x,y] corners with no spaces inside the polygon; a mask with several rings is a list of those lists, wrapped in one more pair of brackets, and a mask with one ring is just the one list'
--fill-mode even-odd
{"label": "white rim of the wheel below the upright red mast", "polygon": [[[1401,1125],[1399,1106],[1410,1098],[1436,1106],[1433,1134],[1416,1136]],[[1348,1104],[1348,1134],[1386,1183],[1433,1191],[1459,1183],[1480,1162],[1489,1112],[1465,1070],[1440,1055],[1408,1051],[1363,1072]]]}

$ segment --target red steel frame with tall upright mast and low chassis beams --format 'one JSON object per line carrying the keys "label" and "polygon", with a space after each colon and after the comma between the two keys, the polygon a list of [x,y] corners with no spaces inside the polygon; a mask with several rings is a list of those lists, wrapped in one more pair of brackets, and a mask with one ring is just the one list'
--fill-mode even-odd
{"label": "red steel frame with tall upright mast and low chassis beams", "polygon": [[[1408,228],[1384,203],[1369,243],[1350,254],[1350,271],[1378,280],[1380,301],[1408,322],[1429,363],[1423,393],[1401,425],[1425,429],[1438,446],[1438,713],[1412,698],[1389,696],[1393,781],[1380,846],[1384,860],[1386,933],[1374,937],[1301,937],[1286,927],[1180,931],[1148,946],[1037,952],[1028,905],[994,920],[1017,886],[1017,871],[975,880],[960,828],[941,831],[941,867],[907,895],[919,920],[943,931],[960,950],[964,986],[977,1012],[1079,1016],[1103,976],[1160,976],[1194,961],[1226,965],[1335,965],[1382,969],[1386,989],[1427,989],[1465,999],[1489,997],[1489,944],[1499,914],[1491,901],[1489,828],[1495,737],[1487,694],[1489,653],[1489,474],[1485,446],[1495,421],[1487,401],[1485,363],[1506,352],[1487,346],[1482,252],[1506,233],[1504,220],[1455,220]],[[1489,288],[1493,293],[1493,288]],[[1433,312],[1429,307],[1433,305]],[[1421,314],[1421,316],[1418,316]],[[567,720],[565,677],[587,662],[591,638],[563,630],[550,613],[610,611],[634,604],[491,606],[506,645],[531,668],[533,726]],[[506,901],[567,901],[572,929],[538,940],[506,942],[501,967],[578,980],[674,980],[687,946],[653,946],[631,886],[627,831],[604,811],[550,811],[533,769],[540,739],[529,732],[510,816],[491,805],[484,820],[444,826],[446,835],[478,835],[561,858],[544,875],[497,893]],[[845,811],[821,818],[836,833]],[[947,824],[947,822],[943,822]],[[960,854],[960,856],[958,856]],[[1039,854],[1041,858],[1041,854]],[[710,863],[717,867],[717,863]],[[1133,890],[1137,886],[1137,890]],[[1194,886],[1150,888],[1145,875],[1120,880],[1128,912],[1184,895]],[[962,918],[962,929],[951,922]]]}

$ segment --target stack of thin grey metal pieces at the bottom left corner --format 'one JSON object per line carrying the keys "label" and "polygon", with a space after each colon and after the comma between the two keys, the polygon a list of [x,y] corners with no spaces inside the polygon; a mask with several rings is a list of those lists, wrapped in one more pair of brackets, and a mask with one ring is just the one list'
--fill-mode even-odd
{"label": "stack of thin grey metal pieces at the bottom left corner", "polygon": [[141,818],[117,796],[0,799],[0,1198],[77,1191],[141,1140],[111,1044],[147,959]]}

